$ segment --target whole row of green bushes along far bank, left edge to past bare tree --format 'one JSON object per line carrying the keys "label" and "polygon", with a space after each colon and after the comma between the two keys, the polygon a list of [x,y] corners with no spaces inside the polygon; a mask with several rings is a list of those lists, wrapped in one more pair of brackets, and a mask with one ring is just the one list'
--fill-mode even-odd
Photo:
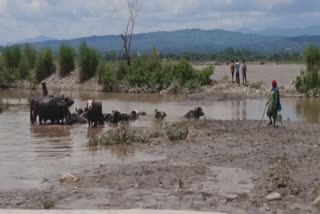
{"label": "whole row of green bushes along far bank, left edge to past bare tree", "polygon": [[124,60],[105,61],[93,48],[83,43],[79,54],[67,46],[61,45],[57,57],[51,49],[37,52],[32,46],[6,47],[0,55],[0,81],[32,79],[40,82],[56,72],[56,61],[61,76],[72,72],[78,60],[80,81],[88,80],[97,75],[100,84],[113,88],[122,83],[130,86],[156,86],[158,90],[167,88],[172,82],[188,89],[196,89],[210,83],[213,68],[202,71],[195,70],[186,60],[178,62],[161,59],[154,50],[149,55],[133,59],[129,67]]}

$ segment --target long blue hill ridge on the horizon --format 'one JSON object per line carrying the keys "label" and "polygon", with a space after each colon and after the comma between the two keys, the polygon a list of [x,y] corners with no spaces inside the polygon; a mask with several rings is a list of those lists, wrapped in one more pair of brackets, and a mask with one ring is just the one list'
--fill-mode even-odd
{"label": "long blue hill ridge on the horizon", "polygon": [[[244,34],[225,30],[177,30],[136,34],[133,37],[133,52],[150,52],[157,48],[161,53],[183,52],[216,53],[226,48],[247,49],[258,53],[301,52],[310,42],[320,44],[320,36],[282,37]],[[120,35],[91,36],[71,40],[49,40],[34,43],[38,49],[52,48],[60,44],[78,48],[86,41],[100,52],[123,50]]]}

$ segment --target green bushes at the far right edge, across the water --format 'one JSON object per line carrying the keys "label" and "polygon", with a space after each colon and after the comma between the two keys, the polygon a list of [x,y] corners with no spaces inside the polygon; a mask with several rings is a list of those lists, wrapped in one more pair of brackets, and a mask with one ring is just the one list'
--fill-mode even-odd
{"label": "green bushes at the far right edge, across the water", "polygon": [[320,95],[320,49],[310,45],[304,52],[307,72],[296,79],[296,89],[308,96]]}

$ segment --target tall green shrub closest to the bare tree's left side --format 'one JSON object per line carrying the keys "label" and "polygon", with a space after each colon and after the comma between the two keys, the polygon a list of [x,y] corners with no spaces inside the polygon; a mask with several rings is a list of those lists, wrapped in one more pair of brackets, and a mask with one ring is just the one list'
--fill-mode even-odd
{"label": "tall green shrub closest to the bare tree's left side", "polygon": [[83,82],[93,77],[96,74],[98,64],[98,52],[89,48],[85,42],[82,43],[79,54],[80,81]]}

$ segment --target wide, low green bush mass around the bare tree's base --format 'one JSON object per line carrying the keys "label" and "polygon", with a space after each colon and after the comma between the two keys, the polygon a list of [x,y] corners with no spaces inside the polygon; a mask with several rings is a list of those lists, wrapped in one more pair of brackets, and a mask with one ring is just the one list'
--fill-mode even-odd
{"label": "wide, low green bush mass around the bare tree's base", "polygon": [[156,87],[157,90],[168,88],[172,83],[188,89],[197,89],[210,83],[213,68],[195,70],[186,60],[174,62],[161,59],[153,52],[148,56],[133,59],[131,67],[124,61],[100,62],[98,68],[99,83],[108,88],[129,83],[133,87]]}

